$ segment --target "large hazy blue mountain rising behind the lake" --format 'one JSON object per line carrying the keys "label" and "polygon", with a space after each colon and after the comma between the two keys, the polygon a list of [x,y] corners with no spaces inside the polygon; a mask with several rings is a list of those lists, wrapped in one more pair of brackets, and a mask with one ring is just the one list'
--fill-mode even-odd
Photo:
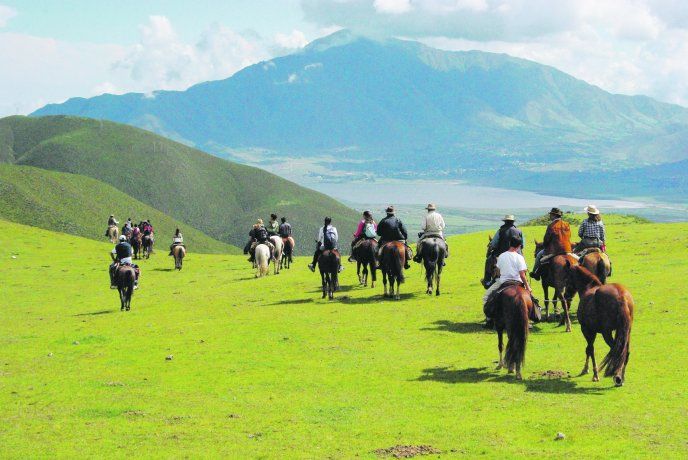
{"label": "large hazy blue mountain rising behind the lake", "polygon": [[[540,178],[562,171],[565,192],[575,179],[588,196],[596,183],[578,171],[650,167],[641,176],[651,176],[652,166],[688,159],[683,107],[610,94],[503,54],[347,31],[186,91],[74,98],[34,113],[54,114],[143,127],[251,164],[306,159],[305,172],[440,174],[501,186],[500,173],[521,172],[535,181],[516,185],[537,191]],[[598,194],[646,189],[651,181],[628,181]]]}

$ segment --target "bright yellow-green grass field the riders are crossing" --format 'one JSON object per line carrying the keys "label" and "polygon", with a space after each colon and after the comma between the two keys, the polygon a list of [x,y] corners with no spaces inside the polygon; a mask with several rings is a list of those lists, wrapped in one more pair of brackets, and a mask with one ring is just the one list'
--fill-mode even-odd
{"label": "bright yellow-green grass field the riders are crossing", "polygon": [[124,314],[108,245],[0,222],[0,454],[350,458],[427,443],[448,456],[685,458],[688,225],[609,231],[612,280],[636,302],[622,389],[575,377],[576,324],[536,328],[523,382],[492,370],[496,337],[477,326],[485,232],[451,239],[439,299],[421,294],[418,266],[400,302],[350,288],[349,266],[328,303],[305,259],[255,280],[238,256],[190,254],[175,273],[158,254]]}

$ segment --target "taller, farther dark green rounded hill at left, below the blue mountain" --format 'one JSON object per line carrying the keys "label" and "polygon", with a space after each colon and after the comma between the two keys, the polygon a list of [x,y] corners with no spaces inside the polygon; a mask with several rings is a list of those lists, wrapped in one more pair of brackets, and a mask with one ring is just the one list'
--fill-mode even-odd
{"label": "taller, farther dark green rounded hill at left, below the blue mountain", "polygon": [[312,241],[325,215],[347,232],[356,223],[353,210],[321,193],[117,123],[8,117],[0,120],[0,146],[0,161],[98,179],[234,245],[271,212],[290,219],[297,244]]}

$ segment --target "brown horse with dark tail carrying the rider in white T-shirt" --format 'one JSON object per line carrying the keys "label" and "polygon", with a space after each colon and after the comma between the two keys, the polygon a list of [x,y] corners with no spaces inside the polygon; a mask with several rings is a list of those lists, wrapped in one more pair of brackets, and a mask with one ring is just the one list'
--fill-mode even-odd
{"label": "brown horse with dark tail carrying the rider in white T-shirt", "polygon": [[[522,380],[521,367],[526,358],[528,320],[539,321],[539,312],[533,305],[530,293],[520,284],[504,288],[493,303],[497,348],[499,349],[497,369],[506,367],[509,374],[516,373],[516,380]],[[506,354],[503,355],[505,330],[508,342]]]}

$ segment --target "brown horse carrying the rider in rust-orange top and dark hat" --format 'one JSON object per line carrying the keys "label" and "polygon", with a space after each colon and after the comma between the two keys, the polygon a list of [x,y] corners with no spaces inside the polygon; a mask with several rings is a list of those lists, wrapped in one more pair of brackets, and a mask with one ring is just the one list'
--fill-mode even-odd
{"label": "brown horse carrying the rider in rust-orange top and dark hat", "polygon": [[[544,243],[535,241],[535,254],[537,255],[543,249]],[[571,301],[576,293],[575,287],[571,283],[568,276],[566,264],[578,265],[578,261],[571,254],[557,254],[547,264],[549,267],[541,270],[542,273],[542,290],[545,294],[545,319],[549,321],[549,288],[554,288],[554,298],[552,304],[554,305],[554,312],[557,310],[557,300],[561,301],[564,307],[564,317],[559,324],[566,324],[566,332],[571,332],[571,317],[569,316],[569,308]]]}

